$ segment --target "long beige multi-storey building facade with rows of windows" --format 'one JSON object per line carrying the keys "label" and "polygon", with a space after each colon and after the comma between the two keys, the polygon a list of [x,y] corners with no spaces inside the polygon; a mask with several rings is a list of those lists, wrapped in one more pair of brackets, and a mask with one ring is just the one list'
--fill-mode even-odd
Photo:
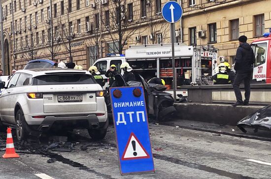
{"label": "long beige multi-storey building facade with rows of windows", "polygon": [[[271,0],[180,0],[176,41],[214,45],[233,63],[238,36],[248,42],[271,28]],[[5,68],[29,60],[73,61],[87,69],[130,45],[170,42],[161,11],[166,0],[2,0]]]}

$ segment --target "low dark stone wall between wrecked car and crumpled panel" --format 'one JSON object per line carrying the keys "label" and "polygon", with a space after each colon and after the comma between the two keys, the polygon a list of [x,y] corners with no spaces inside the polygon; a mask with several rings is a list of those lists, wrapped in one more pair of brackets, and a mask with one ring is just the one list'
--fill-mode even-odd
{"label": "low dark stone wall between wrecked car and crumpled panel", "polygon": [[236,126],[244,117],[264,106],[237,106],[230,104],[174,103],[178,119],[197,120]]}

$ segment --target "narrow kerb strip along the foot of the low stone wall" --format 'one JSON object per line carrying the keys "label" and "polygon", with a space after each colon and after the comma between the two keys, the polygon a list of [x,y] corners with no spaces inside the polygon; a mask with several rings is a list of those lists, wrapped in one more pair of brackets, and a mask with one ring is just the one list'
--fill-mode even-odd
{"label": "narrow kerb strip along the foot of the low stone wall", "polygon": [[213,135],[230,135],[235,137],[242,137],[247,139],[256,139],[271,142],[271,131],[259,130],[254,133],[252,129],[246,128],[247,133],[243,133],[237,126],[220,125],[215,123],[200,122],[194,120],[172,119],[167,122],[160,122],[159,124],[176,126],[185,129],[199,130],[204,132],[211,132]]}

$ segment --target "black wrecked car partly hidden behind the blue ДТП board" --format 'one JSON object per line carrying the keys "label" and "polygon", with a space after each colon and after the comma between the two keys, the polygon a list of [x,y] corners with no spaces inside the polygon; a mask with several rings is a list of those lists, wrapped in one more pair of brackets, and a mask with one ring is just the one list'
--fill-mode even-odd
{"label": "black wrecked car partly hidden behind the blue \u0414\u0422\u041f board", "polygon": [[[173,106],[174,99],[167,88],[162,85],[148,84],[141,75],[137,76],[138,81],[126,83],[120,74],[115,75],[115,82],[112,87],[144,87],[145,101],[147,106],[148,118],[154,120],[167,120],[176,113]],[[105,95],[108,116],[112,116],[110,95]]]}

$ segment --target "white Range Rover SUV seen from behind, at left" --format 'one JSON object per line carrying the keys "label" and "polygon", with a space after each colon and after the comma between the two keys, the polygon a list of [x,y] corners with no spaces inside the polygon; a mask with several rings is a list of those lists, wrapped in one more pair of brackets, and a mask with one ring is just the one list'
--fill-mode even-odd
{"label": "white Range Rover SUV seen from behind, at left", "polygon": [[49,129],[86,128],[95,140],[106,135],[108,120],[102,87],[87,71],[20,70],[7,87],[0,82],[0,88],[0,125],[16,127],[19,141]]}

